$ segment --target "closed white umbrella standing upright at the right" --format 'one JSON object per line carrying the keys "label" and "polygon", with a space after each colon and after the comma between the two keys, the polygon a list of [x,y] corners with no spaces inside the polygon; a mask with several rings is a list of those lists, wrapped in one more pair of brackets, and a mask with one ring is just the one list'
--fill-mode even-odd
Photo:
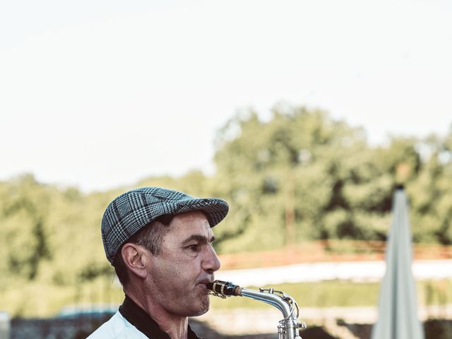
{"label": "closed white umbrella standing upright at the right", "polygon": [[417,318],[408,203],[403,187],[393,196],[393,221],[386,244],[386,273],[381,282],[379,317],[371,339],[424,339]]}

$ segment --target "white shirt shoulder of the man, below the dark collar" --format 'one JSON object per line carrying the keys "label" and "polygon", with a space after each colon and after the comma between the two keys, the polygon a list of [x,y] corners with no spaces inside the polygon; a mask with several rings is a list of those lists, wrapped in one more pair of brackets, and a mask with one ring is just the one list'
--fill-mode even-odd
{"label": "white shirt shoulder of the man, below the dark collar", "polygon": [[148,339],[127,321],[119,311],[109,321],[97,328],[87,339]]}

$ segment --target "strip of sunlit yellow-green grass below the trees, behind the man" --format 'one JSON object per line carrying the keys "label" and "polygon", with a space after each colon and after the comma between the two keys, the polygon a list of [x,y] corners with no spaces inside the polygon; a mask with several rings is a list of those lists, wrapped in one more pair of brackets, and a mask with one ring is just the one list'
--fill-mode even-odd
{"label": "strip of sunlit yellow-green grass below the trees, behind the man", "polygon": [[[376,307],[379,300],[380,283],[351,283],[341,280],[317,283],[281,284],[273,287],[292,296],[300,308],[303,307]],[[258,290],[258,287],[247,287]],[[416,284],[417,300],[422,305],[452,304],[452,280],[425,280]],[[92,307],[96,304],[118,305],[124,295],[121,287],[111,278],[95,280],[83,286],[54,286],[29,283],[16,285],[0,291],[0,309],[11,316],[47,317],[56,316],[63,307],[78,305]],[[210,298],[214,309],[262,308],[263,302],[244,297],[225,300]]]}

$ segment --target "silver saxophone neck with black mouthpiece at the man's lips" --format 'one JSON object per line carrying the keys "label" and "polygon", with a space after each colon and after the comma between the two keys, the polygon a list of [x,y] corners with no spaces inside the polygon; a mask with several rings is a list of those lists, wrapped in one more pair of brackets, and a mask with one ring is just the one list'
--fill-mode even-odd
{"label": "silver saxophone neck with black mouthpiece at the man's lips", "polygon": [[276,307],[284,316],[284,319],[279,321],[278,339],[302,339],[297,330],[299,328],[305,328],[306,325],[297,321],[299,313],[298,305],[290,295],[273,290],[273,288],[259,288],[258,291],[249,290],[221,280],[208,283],[207,288],[209,294],[215,297],[223,299],[231,296],[249,297]]}

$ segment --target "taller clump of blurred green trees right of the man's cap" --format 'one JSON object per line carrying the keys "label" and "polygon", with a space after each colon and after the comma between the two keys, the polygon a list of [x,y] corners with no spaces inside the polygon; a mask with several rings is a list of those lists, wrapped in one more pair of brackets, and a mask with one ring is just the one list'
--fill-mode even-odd
{"label": "taller clump of blurred green trees right of the man's cap", "polygon": [[415,241],[451,244],[451,136],[394,137],[374,148],[362,129],[318,109],[275,107],[266,122],[253,111],[237,116],[218,136],[216,180],[243,217],[219,230],[228,235],[220,249],[384,240],[398,184],[411,199]]}

